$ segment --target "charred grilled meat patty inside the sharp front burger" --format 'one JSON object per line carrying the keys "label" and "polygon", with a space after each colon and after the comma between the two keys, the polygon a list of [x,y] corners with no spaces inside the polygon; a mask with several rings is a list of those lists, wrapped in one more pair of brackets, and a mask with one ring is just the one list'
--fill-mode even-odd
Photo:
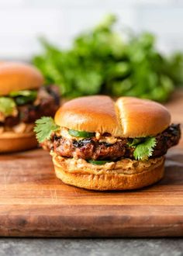
{"label": "charred grilled meat patty inside the sharp front burger", "polygon": [[[156,137],[157,145],[152,157],[161,157],[167,149],[178,144],[181,137],[179,124],[171,124]],[[95,137],[83,140],[70,140],[53,135],[51,140],[43,144],[44,148],[54,150],[61,157],[78,157],[85,160],[117,160],[121,157],[133,159],[133,147],[128,146],[128,138],[118,138],[114,144],[99,142]]]}

